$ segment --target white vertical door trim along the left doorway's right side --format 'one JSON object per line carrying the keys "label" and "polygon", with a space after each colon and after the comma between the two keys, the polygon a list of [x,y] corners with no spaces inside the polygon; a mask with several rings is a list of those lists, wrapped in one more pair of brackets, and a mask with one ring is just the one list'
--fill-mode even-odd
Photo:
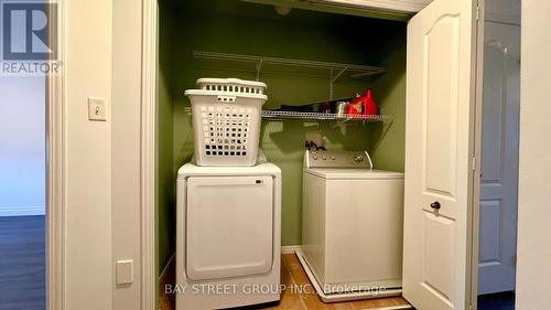
{"label": "white vertical door trim along the left doorway's right side", "polygon": [[[48,15],[57,17],[57,31],[48,28],[48,38],[57,41],[60,61],[66,63],[66,6],[57,6]],[[54,9],[53,7],[51,9]],[[66,100],[65,67],[46,76],[46,309],[65,310],[66,239]]]}

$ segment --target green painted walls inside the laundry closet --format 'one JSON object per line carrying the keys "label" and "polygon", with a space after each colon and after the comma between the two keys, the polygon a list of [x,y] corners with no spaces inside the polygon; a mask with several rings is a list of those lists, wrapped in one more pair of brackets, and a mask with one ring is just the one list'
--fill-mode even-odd
{"label": "green painted walls inside the laundry closet", "polygon": [[[255,79],[247,73],[205,70],[193,60],[192,51],[388,66],[389,73],[374,82],[337,82],[335,97],[352,96],[370,86],[375,88],[382,111],[397,116],[387,138],[379,143],[381,151],[375,152],[375,163],[380,161],[380,168],[403,171],[404,23],[302,10],[281,17],[269,6],[222,0],[182,1],[161,7],[161,19],[163,17],[161,23],[170,25],[170,31],[162,32],[161,38],[168,40],[160,41],[166,45],[160,46],[161,60],[166,62],[164,67],[163,62],[160,64],[160,74],[164,75],[160,84],[168,87],[163,89],[166,96],[162,99],[160,96],[159,113],[160,129],[163,129],[159,132],[162,136],[159,140],[163,141],[159,150],[159,160],[163,161],[159,164],[159,179],[165,182],[159,183],[159,190],[166,195],[159,199],[160,268],[174,252],[175,218],[170,215],[174,214],[176,171],[193,153],[191,117],[184,111],[190,101],[184,90],[194,88],[199,77]],[[328,77],[261,74],[260,81],[268,85],[269,99],[264,108],[328,97]],[[168,132],[171,127],[172,132]],[[301,244],[304,133],[321,131],[327,137],[328,149],[363,150],[371,149],[379,140],[380,129],[378,125],[333,128],[328,122],[262,121],[261,148],[268,160],[281,168],[283,175],[282,245]],[[169,139],[172,139],[171,146]],[[169,161],[170,170],[166,169]]]}

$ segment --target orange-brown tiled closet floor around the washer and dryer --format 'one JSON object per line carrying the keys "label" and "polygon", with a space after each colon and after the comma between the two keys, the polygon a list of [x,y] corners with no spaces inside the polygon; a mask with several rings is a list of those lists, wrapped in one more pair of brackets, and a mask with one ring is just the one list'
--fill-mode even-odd
{"label": "orange-brown tiled closet floor around the washer and dryer", "polygon": [[[287,254],[282,256],[281,260],[281,282],[285,285],[287,289],[281,296],[281,301],[278,304],[268,304],[262,307],[248,307],[247,309],[280,309],[280,310],[357,310],[357,309],[374,309],[379,307],[408,304],[401,297],[368,299],[360,301],[346,301],[324,303],[317,295],[313,293],[311,287],[309,293],[299,293],[291,291],[290,287],[310,286],[306,274],[294,254]],[[174,296],[161,297],[161,310],[174,310]]]}

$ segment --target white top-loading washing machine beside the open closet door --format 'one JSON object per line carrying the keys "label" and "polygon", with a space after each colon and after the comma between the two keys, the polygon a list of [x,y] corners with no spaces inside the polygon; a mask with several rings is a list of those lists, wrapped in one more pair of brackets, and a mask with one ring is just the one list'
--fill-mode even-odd
{"label": "white top-loading washing machine beside the open closet door", "polygon": [[298,256],[323,301],[401,293],[403,173],[367,152],[306,151],[302,196]]}

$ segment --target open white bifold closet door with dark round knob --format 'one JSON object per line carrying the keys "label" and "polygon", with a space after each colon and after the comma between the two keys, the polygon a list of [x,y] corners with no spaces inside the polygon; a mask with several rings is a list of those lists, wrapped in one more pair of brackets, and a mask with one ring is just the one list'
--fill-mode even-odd
{"label": "open white bifold closet door with dark round knob", "polygon": [[474,11],[435,0],[408,24],[403,297],[423,310],[468,306]]}

